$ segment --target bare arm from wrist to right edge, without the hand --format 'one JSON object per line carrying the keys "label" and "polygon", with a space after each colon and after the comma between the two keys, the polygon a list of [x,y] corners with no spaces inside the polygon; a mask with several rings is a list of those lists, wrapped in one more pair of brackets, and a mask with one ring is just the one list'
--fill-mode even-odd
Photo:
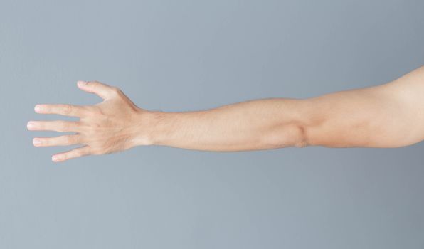
{"label": "bare arm from wrist to right edge, without the hand", "polygon": [[424,67],[372,88],[159,112],[155,119],[153,144],[187,149],[402,147],[424,139]]}

